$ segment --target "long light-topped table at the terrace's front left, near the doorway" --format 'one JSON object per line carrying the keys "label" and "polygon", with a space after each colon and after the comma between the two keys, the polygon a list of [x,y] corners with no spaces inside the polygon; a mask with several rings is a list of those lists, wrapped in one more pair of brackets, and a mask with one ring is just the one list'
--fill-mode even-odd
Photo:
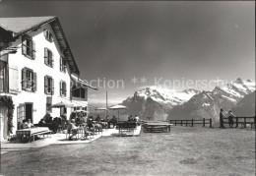
{"label": "long light-topped table at the terrace's front left, near the doorway", "polygon": [[44,135],[44,134],[48,134],[51,131],[49,131],[48,127],[36,127],[36,128],[31,128],[31,129],[22,129],[22,130],[17,130],[16,131],[16,135],[18,137],[23,137],[23,136],[28,136],[30,137],[30,141],[33,137],[33,141],[34,141],[34,136],[35,135]]}

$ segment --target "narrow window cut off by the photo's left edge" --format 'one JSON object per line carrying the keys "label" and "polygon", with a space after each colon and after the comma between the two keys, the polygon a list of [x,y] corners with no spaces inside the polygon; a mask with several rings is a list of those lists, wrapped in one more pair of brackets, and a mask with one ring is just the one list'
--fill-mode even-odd
{"label": "narrow window cut off by the photo's left edge", "polygon": [[7,59],[8,55],[0,56],[0,92],[8,91]]}

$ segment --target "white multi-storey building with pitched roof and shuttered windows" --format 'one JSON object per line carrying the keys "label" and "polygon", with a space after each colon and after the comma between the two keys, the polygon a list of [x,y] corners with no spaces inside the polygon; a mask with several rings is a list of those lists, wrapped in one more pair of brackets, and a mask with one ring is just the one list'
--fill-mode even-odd
{"label": "white multi-storey building with pitched roof and shuttered windows", "polygon": [[78,79],[79,68],[57,17],[0,18],[0,39],[0,96],[11,96],[15,105],[10,120],[0,103],[2,139],[11,121],[15,132],[23,119],[36,124],[47,112],[59,117],[73,110],[52,108],[55,103],[87,108],[89,86]]}

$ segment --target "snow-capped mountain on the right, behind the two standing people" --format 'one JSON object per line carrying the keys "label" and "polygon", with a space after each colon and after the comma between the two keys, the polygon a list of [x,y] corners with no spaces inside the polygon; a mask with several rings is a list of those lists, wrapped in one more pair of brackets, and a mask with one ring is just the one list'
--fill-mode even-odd
{"label": "snow-capped mountain on the right, behind the two standing people", "polygon": [[202,91],[195,94],[182,106],[173,107],[168,115],[169,119],[202,119],[212,118],[219,122],[219,112],[231,109],[246,94],[255,90],[255,83],[250,80],[236,79],[224,87],[216,87],[212,91]]}

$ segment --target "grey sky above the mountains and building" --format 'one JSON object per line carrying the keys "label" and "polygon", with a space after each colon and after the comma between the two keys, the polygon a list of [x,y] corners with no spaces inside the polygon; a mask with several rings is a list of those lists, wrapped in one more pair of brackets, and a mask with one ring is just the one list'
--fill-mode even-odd
{"label": "grey sky above the mountains and building", "polygon": [[211,90],[220,80],[255,81],[252,1],[0,2],[0,17],[29,16],[59,18],[80,78],[99,88],[89,91],[94,103],[106,90],[119,103],[148,86]]}

